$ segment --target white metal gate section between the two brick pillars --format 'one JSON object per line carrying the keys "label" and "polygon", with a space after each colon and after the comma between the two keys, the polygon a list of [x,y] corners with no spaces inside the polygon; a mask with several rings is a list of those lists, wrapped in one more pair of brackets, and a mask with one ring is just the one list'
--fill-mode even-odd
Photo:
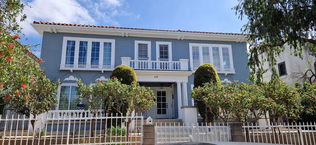
{"label": "white metal gate section between the two brick pillars", "polygon": [[229,142],[230,127],[222,124],[213,126],[184,126],[165,124],[155,126],[156,144],[180,142]]}

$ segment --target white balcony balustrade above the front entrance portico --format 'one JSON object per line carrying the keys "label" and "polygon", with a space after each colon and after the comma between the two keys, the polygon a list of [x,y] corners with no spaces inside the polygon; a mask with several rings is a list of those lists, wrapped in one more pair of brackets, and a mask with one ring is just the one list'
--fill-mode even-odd
{"label": "white balcony balustrade above the front entrance portico", "polygon": [[134,70],[189,71],[188,59],[180,59],[179,61],[156,61],[121,58],[121,60],[123,65],[130,66]]}

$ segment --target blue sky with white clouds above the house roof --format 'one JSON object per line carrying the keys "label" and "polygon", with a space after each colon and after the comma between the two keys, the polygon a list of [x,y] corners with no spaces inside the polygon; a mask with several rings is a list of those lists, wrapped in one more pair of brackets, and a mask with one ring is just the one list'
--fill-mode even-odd
{"label": "blue sky with white clouds above the house roof", "polygon": [[[126,28],[241,33],[247,20],[232,8],[238,0],[24,0],[21,43],[36,44],[42,37],[33,21],[116,26]],[[33,48],[40,57],[41,45]]]}

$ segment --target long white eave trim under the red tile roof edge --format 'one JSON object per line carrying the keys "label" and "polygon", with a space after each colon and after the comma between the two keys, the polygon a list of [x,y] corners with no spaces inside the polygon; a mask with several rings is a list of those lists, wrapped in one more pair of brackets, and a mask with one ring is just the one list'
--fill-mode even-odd
{"label": "long white eave trim under the red tile roof edge", "polygon": [[146,30],[146,29],[115,29],[115,28],[99,28],[99,27],[82,27],[82,26],[65,26],[65,25],[49,25],[49,24],[30,24],[41,36],[43,32],[49,32],[50,29],[56,29],[56,32],[94,34],[94,35],[112,35],[122,36],[128,33],[132,37],[149,37],[149,38],[170,38],[178,39],[179,36],[193,40],[214,40],[214,41],[230,41],[230,42],[247,42],[246,35],[229,35],[214,33],[195,33],[195,32],[179,32],[179,31],[163,31],[163,30]]}

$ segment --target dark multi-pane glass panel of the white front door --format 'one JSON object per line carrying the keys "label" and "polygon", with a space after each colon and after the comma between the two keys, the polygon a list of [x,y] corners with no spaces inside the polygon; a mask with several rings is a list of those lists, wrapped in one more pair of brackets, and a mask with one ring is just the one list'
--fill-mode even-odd
{"label": "dark multi-pane glass panel of the white front door", "polygon": [[168,118],[169,117],[169,109],[168,109],[168,101],[169,100],[169,92],[164,89],[156,90],[156,118]]}

